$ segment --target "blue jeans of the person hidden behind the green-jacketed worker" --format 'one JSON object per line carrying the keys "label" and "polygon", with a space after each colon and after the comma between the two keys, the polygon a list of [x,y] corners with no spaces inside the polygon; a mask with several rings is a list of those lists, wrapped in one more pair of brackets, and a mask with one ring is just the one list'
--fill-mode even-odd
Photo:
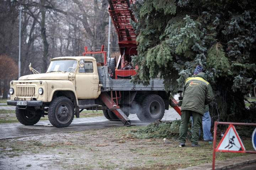
{"label": "blue jeans of the person hidden behind the green-jacketed worker", "polygon": [[[193,126],[193,118],[192,118],[192,116],[190,118],[192,120],[192,126]],[[202,121],[204,141],[212,140],[213,139],[212,133],[210,132],[211,121],[212,120],[210,118],[209,111],[204,112],[203,121]],[[191,132],[192,132],[192,127],[191,127]],[[200,133],[201,133],[201,129],[199,129],[199,136],[200,136]]]}

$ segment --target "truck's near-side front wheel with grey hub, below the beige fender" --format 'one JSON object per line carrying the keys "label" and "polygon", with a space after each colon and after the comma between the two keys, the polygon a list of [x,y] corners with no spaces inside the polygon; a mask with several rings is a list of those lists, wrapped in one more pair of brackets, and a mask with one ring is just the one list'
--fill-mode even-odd
{"label": "truck's near-side front wheel with grey hub, below the beige fender", "polygon": [[56,97],[49,105],[48,118],[50,123],[56,128],[69,126],[74,119],[74,115],[74,105],[67,97]]}

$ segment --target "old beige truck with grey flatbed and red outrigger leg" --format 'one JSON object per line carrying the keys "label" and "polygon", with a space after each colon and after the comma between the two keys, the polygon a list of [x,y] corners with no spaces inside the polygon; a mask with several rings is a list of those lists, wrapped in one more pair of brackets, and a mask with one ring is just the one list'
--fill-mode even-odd
{"label": "old beige truck with grey flatbed and red outrigger leg", "polygon": [[137,113],[144,122],[161,119],[171,104],[163,80],[152,79],[143,86],[130,79],[111,79],[112,60],[103,64],[85,56],[53,58],[46,73],[11,81],[7,104],[16,106],[23,125],[34,125],[48,115],[53,126],[63,128],[83,109],[103,110],[108,120],[125,125],[130,125],[129,114]]}

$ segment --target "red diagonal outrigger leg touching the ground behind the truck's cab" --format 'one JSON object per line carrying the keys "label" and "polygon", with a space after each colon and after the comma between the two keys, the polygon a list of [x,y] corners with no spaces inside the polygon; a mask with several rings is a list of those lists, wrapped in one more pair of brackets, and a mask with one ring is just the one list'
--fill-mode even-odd
{"label": "red diagonal outrigger leg touching the ground behind the truck's cab", "polygon": [[130,122],[130,119],[121,111],[121,109],[116,108],[116,103],[111,101],[111,97],[107,94],[107,92],[101,92],[99,98],[102,100],[102,102],[107,106],[110,111],[112,111],[119,120],[122,121],[122,123],[126,126],[131,126],[132,123]]}

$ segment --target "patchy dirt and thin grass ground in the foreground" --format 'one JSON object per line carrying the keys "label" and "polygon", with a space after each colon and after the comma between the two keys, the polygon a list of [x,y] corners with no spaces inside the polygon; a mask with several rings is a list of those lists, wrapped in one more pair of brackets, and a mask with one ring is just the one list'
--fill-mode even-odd
{"label": "patchy dirt and thin grass ground in the foreground", "polygon": [[[0,170],[179,169],[212,162],[212,146],[177,147],[178,141],[137,139],[128,132],[144,126],[108,128],[0,140]],[[243,140],[252,147],[250,140]],[[217,153],[216,161],[246,154]]]}

